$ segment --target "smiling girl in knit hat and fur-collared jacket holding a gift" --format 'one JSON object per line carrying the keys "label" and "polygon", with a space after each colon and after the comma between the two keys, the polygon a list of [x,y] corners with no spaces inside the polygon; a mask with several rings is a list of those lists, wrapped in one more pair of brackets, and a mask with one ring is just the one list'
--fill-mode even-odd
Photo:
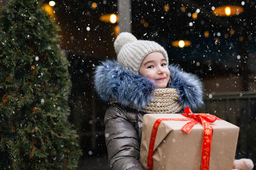
{"label": "smiling girl in knit hat and fur-collared jacket holding a gift", "polygon": [[111,169],[143,169],[140,143],[143,115],[180,113],[203,104],[202,83],[179,67],[168,66],[166,50],[154,41],[122,32],[115,40],[117,61],[95,71],[95,90],[111,104],[104,123]]}

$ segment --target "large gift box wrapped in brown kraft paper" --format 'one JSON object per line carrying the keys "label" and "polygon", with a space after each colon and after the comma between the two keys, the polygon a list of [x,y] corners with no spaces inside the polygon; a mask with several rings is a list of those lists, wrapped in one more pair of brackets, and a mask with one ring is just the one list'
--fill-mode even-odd
{"label": "large gift box wrapped in brown kraft paper", "polygon": [[[156,120],[159,120],[159,118],[174,118],[177,120],[164,120],[159,124],[159,127],[156,130],[156,125],[155,127],[153,126]],[[179,119],[184,119],[186,121]],[[154,144],[151,146],[152,169],[232,169],[236,154],[239,127],[220,119],[210,123],[213,130],[210,149],[211,152],[208,159],[209,166],[208,168],[202,168],[202,150],[204,146],[203,126],[200,123],[195,124],[189,134],[181,131],[182,127],[189,121],[189,118],[186,118],[181,114],[144,115],[140,148],[140,162],[145,169],[147,169],[148,164],[148,149],[150,145],[152,129],[154,129],[153,131],[157,131],[156,137],[153,140]],[[204,142],[204,144],[208,142],[209,140]],[[204,154],[207,155],[208,153]]]}

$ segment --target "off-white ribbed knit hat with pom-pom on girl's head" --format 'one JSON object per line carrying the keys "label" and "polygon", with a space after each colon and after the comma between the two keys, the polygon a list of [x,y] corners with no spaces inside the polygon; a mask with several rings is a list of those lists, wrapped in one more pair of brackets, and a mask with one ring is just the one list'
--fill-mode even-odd
{"label": "off-white ribbed knit hat with pom-pom on girl's head", "polygon": [[163,46],[155,41],[138,40],[129,32],[119,34],[114,43],[117,61],[121,66],[139,74],[141,62],[152,52],[161,52],[168,65],[168,55]]}

